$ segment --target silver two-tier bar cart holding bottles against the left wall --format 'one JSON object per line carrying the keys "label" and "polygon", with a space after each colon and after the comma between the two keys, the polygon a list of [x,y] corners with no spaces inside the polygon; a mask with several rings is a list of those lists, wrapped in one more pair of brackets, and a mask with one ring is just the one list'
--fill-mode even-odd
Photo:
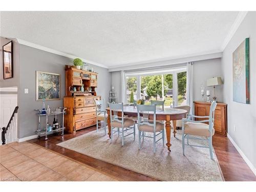
{"label": "silver two-tier bar cart holding bottles against the left wall", "polygon": [[[58,132],[62,132],[61,135],[64,135],[64,129],[65,129],[65,126],[64,126],[64,115],[66,114],[66,109],[67,108],[62,108],[62,107],[59,107],[59,108],[56,108],[56,111],[55,112],[50,112],[50,113],[42,113],[43,110],[38,110],[36,109],[35,111],[37,111],[36,115],[38,116],[38,130],[36,131],[36,134],[38,135],[37,138],[40,139],[41,136],[44,136],[45,135],[45,140],[48,139],[48,135],[50,134],[53,134],[53,133],[58,133]],[[58,129],[56,130],[52,130],[52,131],[48,131],[47,130],[47,123],[48,123],[48,116],[52,116],[54,115],[55,116],[55,119],[57,118],[57,115],[62,115],[62,126],[59,126]],[[41,125],[41,117],[46,117],[46,128],[42,128],[40,127]]]}

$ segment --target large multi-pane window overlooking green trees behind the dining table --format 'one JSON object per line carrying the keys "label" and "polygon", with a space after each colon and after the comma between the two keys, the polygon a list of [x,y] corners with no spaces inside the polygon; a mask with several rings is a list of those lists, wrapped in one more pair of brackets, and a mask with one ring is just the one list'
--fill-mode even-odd
{"label": "large multi-pane window overlooking green trees behind the dining table", "polygon": [[168,108],[186,104],[185,68],[130,73],[125,76],[126,104],[138,99],[144,99],[145,104],[150,104],[151,100],[165,100],[164,106]]}

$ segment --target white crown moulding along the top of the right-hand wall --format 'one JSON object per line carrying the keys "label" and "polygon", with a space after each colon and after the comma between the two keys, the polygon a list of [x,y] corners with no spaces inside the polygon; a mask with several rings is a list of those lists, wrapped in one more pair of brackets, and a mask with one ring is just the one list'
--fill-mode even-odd
{"label": "white crown moulding along the top of the right-hand wall", "polygon": [[222,43],[221,51],[224,51],[224,49],[226,48],[228,42],[233,37],[234,33],[236,33],[236,31],[238,30],[239,26],[243,22],[244,17],[246,16],[247,13],[248,13],[248,11],[240,11],[238,13],[238,16],[237,16],[236,20],[234,20],[233,25],[231,26],[229,32],[227,33],[226,38],[224,39],[224,41]]}

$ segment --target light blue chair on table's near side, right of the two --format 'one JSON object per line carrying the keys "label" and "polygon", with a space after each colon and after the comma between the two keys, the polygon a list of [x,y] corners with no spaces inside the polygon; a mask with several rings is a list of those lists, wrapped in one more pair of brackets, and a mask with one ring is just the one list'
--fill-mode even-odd
{"label": "light blue chair on table's near side, right of the two", "polygon": [[[138,112],[138,130],[139,130],[139,149],[141,147],[141,138],[144,140],[144,137],[154,139],[154,153],[156,153],[156,143],[162,139],[164,145],[164,124],[156,122],[156,105],[137,105]],[[149,120],[150,114],[154,114],[153,121]],[[141,117],[142,114],[142,117]],[[146,132],[153,133],[153,137],[146,136]],[[159,132],[158,134],[156,134]],[[142,133],[142,135],[141,135]],[[162,137],[156,141],[156,137],[162,134]]]}

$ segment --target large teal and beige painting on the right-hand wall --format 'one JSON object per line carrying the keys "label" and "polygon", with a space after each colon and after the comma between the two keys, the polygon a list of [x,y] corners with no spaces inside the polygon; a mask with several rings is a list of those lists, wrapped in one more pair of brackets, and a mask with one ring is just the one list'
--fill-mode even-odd
{"label": "large teal and beige painting on the right-hand wall", "polygon": [[233,52],[233,101],[250,103],[249,38]]}

